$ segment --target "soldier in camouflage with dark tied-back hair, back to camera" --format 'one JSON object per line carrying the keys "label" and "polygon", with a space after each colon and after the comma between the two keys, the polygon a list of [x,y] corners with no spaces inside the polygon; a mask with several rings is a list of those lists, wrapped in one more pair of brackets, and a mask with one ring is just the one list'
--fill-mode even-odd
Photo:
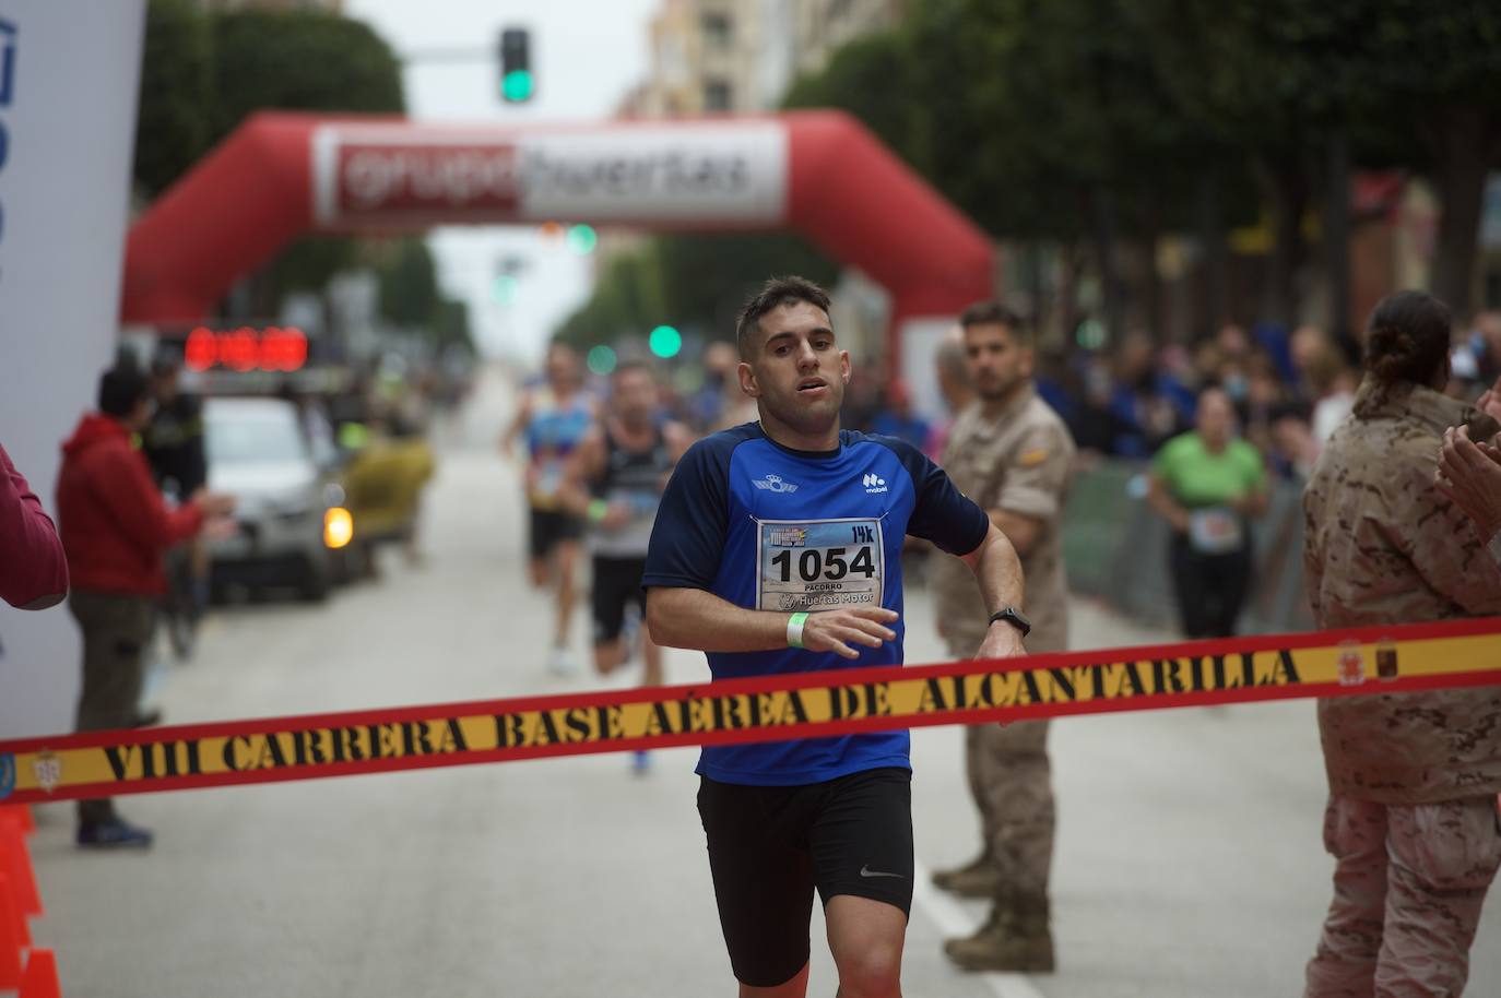
{"label": "soldier in camouflage with dark tied-back hair, back to camera", "polygon": [[[1433,485],[1445,428],[1498,429],[1436,390],[1448,326],[1448,309],[1415,291],[1370,317],[1354,411],[1303,495],[1319,627],[1501,614],[1501,570]],[[1501,689],[1325,699],[1318,719],[1336,867],[1306,998],[1457,996],[1501,864]]]}

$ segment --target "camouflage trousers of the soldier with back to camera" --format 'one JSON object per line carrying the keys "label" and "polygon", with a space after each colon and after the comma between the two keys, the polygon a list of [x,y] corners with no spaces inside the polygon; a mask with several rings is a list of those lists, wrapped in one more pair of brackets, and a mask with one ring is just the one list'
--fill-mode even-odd
{"label": "camouflage trousers of the soldier with back to camera", "polygon": [[1334,900],[1304,998],[1457,998],[1501,866],[1495,797],[1378,804],[1330,797]]}

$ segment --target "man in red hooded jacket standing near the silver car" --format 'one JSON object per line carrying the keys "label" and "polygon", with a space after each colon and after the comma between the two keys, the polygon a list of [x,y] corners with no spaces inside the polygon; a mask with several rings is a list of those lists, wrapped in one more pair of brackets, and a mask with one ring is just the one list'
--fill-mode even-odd
{"label": "man in red hooded jacket standing near the silver car", "polygon": [[[57,522],[84,636],[78,731],[128,728],[141,695],[143,653],[167,591],[162,552],[216,528],[233,497],[197,494],[168,509],[135,435],[150,417],[146,375],[117,365],[99,380],[99,411],[63,444]],[[152,833],[125,822],[110,798],[78,801],[78,845],[149,846]]]}

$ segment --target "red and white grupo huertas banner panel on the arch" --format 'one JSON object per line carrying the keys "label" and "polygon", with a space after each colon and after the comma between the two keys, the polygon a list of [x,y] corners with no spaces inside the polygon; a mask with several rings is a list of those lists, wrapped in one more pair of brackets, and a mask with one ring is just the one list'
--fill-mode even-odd
{"label": "red and white grupo huertas banner panel on the arch", "polygon": [[483,129],[329,125],[312,141],[320,228],[453,221],[764,222],[787,213],[778,122]]}

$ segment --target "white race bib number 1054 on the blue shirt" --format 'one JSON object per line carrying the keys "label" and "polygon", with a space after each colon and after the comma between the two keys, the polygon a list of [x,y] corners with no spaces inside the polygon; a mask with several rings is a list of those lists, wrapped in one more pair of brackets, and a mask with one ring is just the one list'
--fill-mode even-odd
{"label": "white race bib number 1054 on the blue shirt", "polygon": [[757,608],[880,606],[880,519],[761,521]]}

